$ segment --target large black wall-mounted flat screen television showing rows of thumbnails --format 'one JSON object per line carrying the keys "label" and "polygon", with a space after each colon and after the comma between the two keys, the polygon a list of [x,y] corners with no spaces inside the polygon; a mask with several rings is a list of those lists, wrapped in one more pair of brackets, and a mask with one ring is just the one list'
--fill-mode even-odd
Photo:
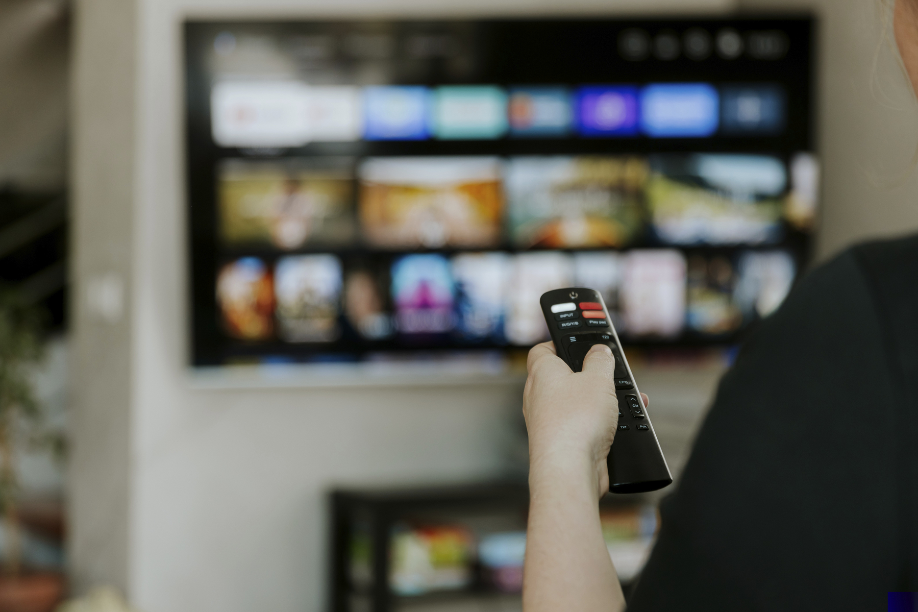
{"label": "large black wall-mounted flat screen television showing rows of thumbnails", "polygon": [[812,242],[809,17],[185,23],[192,364],[735,343]]}

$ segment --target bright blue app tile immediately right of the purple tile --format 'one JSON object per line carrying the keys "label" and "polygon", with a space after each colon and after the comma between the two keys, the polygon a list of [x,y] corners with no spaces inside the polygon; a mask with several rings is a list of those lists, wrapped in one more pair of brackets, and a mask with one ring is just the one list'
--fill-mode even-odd
{"label": "bright blue app tile immediately right of the purple tile", "polygon": [[641,131],[652,138],[703,138],[717,131],[720,96],[706,83],[647,85]]}

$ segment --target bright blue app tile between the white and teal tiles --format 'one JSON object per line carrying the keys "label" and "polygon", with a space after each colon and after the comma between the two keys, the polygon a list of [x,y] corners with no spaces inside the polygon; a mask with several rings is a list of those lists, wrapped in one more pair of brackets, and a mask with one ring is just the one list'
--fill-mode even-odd
{"label": "bright blue app tile between the white and teal tiles", "polygon": [[431,95],[427,87],[375,86],[364,89],[364,138],[422,141],[429,136]]}

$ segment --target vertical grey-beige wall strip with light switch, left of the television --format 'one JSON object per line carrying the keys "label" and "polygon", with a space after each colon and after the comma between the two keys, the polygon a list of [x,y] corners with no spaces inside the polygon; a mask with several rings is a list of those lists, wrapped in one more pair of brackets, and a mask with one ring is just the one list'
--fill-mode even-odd
{"label": "vertical grey-beige wall strip with light switch, left of the television", "polygon": [[78,589],[129,584],[134,26],[126,0],[75,6],[68,554]]}

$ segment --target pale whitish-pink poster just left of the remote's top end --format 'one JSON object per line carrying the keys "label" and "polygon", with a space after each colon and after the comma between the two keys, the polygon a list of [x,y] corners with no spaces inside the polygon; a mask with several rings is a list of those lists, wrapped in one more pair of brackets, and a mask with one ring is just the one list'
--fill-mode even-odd
{"label": "pale whitish-pink poster just left of the remote's top end", "polygon": [[505,294],[504,331],[510,344],[530,346],[549,338],[539,298],[545,291],[570,287],[573,267],[565,253],[521,253],[513,257]]}

